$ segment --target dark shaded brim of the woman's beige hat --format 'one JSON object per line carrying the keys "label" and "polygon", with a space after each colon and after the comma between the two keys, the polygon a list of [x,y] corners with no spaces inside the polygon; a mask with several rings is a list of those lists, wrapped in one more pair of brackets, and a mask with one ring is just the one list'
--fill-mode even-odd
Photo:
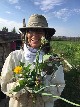
{"label": "dark shaded brim of the woman's beige hat", "polygon": [[23,27],[23,28],[19,28],[19,30],[22,33],[26,33],[26,31],[28,31],[29,29],[43,29],[48,36],[53,36],[56,32],[56,30],[54,28],[48,28],[48,27]]}

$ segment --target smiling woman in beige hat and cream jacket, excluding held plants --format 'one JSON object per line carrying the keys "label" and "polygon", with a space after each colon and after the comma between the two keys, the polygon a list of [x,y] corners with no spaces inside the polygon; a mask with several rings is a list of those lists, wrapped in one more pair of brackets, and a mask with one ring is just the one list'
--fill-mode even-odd
{"label": "smiling woman in beige hat and cream jacket, excluding held plants", "polygon": [[[20,31],[25,34],[23,49],[13,51],[9,54],[1,73],[1,89],[10,97],[9,107],[54,107],[56,98],[37,95],[35,103],[33,103],[29,92],[21,90],[11,94],[9,93],[10,90],[15,87],[15,82],[11,81],[15,66],[18,66],[20,61],[25,63],[26,66],[28,62],[35,62],[36,52],[41,46],[41,38],[45,37],[48,40],[48,43],[44,44],[40,52],[39,62],[41,62],[43,55],[50,51],[50,39],[55,33],[54,28],[48,27],[46,18],[38,14],[31,15],[28,21],[28,26],[23,26],[23,28],[20,28]],[[55,87],[45,89],[45,92],[58,96],[61,95],[65,86],[62,65],[58,67],[54,75],[52,73],[46,74],[44,84],[55,85]]]}

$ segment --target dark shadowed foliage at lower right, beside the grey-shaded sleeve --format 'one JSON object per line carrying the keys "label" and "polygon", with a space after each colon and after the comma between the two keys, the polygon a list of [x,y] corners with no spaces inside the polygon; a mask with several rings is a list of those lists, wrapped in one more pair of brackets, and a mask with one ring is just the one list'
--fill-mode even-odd
{"label": "dark shadowed foliage at lower right, beside the grey-shaded sleeve", "polygon": [[[80,104],[80,67],[72,68],[69,72],[64,72],[66,86],[61,94],[61,97],[69,101]],[[61,100],[55,102],[55,107],[75,107]]]}

